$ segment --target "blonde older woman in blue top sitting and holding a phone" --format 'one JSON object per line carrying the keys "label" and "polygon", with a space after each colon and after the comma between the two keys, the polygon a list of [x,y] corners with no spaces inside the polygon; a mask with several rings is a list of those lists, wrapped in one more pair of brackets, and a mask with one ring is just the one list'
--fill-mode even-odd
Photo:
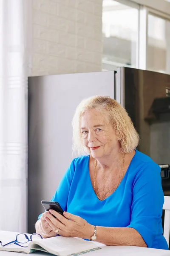
{"label": "blonde older woman in blue top sitting and holding a phone", "polygon": [[[80,237],[106,245],[168,249],[162,235],[159,166],[136,150],[139,136],[125,109],[108,96],[83,100],[73,119],[74,159],[44,212],[44,238]],[[54,216],[56,218],[54,218]]]}

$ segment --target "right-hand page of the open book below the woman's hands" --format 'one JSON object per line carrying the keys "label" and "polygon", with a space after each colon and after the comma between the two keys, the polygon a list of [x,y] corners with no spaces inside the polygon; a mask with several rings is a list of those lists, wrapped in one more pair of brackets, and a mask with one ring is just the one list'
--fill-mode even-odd
{"label": "right-hand page of the open book below the woman's hands", "polygon": [[37,246],[35,243],[43,247],[49,253],[59,256],[65,256],[94,248],[96,248],[96,250],[100,249],[100,247],[97,247],[93,242],[74,237],[56,236],[43,240],[37,240],[34,241],[34,244],[31,244],[30,248],[36,249]]}

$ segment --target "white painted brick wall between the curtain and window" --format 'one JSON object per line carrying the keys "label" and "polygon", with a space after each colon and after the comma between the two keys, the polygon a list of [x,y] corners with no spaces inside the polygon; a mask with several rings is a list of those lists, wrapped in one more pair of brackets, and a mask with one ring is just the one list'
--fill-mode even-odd
{"label": "white painted brick wall between the curtain and window", "polygon": [[32,76],[102,70],[102,0],[33,0]]}

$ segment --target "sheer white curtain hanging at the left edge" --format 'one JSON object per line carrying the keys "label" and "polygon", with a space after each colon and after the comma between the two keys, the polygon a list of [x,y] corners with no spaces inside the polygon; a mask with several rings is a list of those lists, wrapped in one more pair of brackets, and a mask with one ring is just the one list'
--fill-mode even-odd
{"label": "sheer white curtain hanging at the left edge", "polygon": [[0,230],[27,231],[31,0],[0,0]]}

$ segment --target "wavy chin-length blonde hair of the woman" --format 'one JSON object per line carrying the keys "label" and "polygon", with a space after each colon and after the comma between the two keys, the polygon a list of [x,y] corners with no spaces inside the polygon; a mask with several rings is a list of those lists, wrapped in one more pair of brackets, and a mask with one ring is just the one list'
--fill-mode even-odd
{"label": "wavy chin-length blonde hair of the woman", "polygon": [[125,108],[123,108],[116,100],[111,99],[109,96],[93,96],[88,99],[82,100],[77,106],[76,112],[73,117],[73,152],[78,155],[86,155],[90,150],[82,143],[82,133],[80,130],[80,122],[82,115],[85,111],[90,109],[97,109],[101,113],[106,111],[116,131],[117,140],[119,140],[123,153],[130,153],[139,144],[139,135],[136,132],[133,122],[128,116]]}

